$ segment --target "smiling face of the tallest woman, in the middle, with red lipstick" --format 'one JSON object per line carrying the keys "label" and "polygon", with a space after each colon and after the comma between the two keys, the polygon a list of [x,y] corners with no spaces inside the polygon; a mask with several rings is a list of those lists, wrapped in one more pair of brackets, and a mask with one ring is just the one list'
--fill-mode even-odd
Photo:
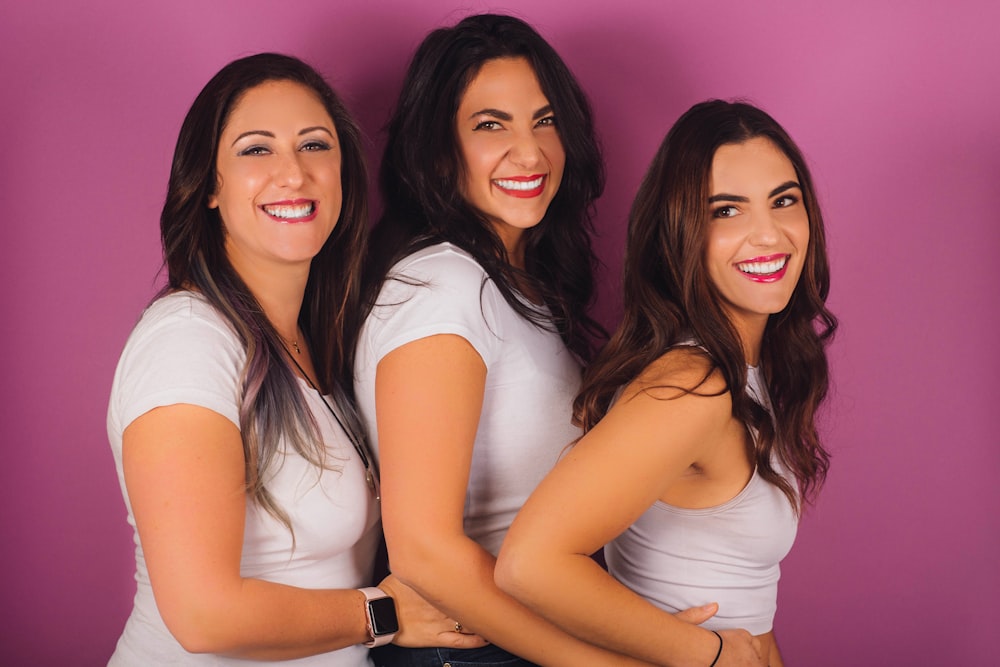
{"label": "smiling face of the tallest woman, in the middle, with red lipstick", "polygon": [[552,108],[528,61],[486,62],[465,90],[455,131],[462,195],[516,262],[524,230],[545,216],[566,163]]}

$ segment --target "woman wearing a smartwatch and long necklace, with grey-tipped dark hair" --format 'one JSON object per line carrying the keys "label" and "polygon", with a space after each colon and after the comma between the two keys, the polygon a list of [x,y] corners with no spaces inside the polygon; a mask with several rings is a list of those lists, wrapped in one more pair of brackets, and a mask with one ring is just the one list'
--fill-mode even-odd
{"label": "woman wearing a smartwatch and long necklace, with grey-tipped dark hair", "polygon": [[188,112],[160,217],[168,284],[108,408],[137,583],[112,665],[360,667],[397,629],[482,645],[399,582],[368,588],[379,499],[346,333],[365,173],[354,121],[295,58],[230,63]]}

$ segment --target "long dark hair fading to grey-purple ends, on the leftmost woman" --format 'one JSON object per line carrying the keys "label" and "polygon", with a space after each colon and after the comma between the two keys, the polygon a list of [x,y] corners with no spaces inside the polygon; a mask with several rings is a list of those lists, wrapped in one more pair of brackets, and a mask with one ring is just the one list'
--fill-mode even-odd
{"label": "long dark hair fading to grey-purple ends, on the leftmost woman", "polygon": [[319,388],[333,397],[344,425],[363,441],[352,378],[368,225],[367,171],[357,125],[329,84],[306,63],[276,53],[241,58],[212,77],[191,105],[177,138],[160,215],[168,272],[161,295],[196,290],[232,325],[245,346],[240,433],[247,492],[290,526],[264,486],[265,473],[283,436],[299,454],[324,467],[325,446],[285,361],[281,337],[226,255],[218,209],[208,208],[218,183],[219,138],[229,115],[248,90],[269,81],[291,81],[313,91],[337,131],[343,204],[333,232],[310,266],[299,326],[313,356]]}

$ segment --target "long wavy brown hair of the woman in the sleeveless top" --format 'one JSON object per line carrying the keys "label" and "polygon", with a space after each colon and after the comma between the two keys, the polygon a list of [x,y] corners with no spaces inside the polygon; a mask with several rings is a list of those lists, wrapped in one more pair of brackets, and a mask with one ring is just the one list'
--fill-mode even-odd
{"label": "long wavy brown hair of the woman in the sleeveless top", "polygon": [[[704,261],[715,152],[757,137],[773,142],[795,167],[809,216],[802,275],[788,305],[770,316],[764,332],[760,366],[773,418],[746,392],[740,336]],[[823,217],[801,151],[773,118],[750,104],[711,100],[695,105],[660,145],[632,205],[624,318],[585,373],[575,419],[584,429],[592,428],[620,387],[671,348],[693,339],[709,362],[706,379],[716,370],[721,373],[732,395],[733,416],[757,432],[759,474],[800,510],[799,498],[814,498],[829,467],[816,430],[816,411],[829,386],[826,347],[837,328],[825,305],[829,290]],[[797,490],[774,470],[772,454],[794,474]]]}

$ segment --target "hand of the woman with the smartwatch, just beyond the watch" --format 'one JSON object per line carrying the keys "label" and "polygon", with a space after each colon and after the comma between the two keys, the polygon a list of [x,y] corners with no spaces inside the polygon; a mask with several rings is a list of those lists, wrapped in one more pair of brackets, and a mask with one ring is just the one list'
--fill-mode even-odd
{"label": "hand of the woman with the smartwatch, just beyond the watch", "polygon": [[479,648],[489,643],[479,635],[466,632],[455,619],[442,614],[394,575],[383,579],[378,587],[396,603],[399,632],[393,644],[410,648]]}

